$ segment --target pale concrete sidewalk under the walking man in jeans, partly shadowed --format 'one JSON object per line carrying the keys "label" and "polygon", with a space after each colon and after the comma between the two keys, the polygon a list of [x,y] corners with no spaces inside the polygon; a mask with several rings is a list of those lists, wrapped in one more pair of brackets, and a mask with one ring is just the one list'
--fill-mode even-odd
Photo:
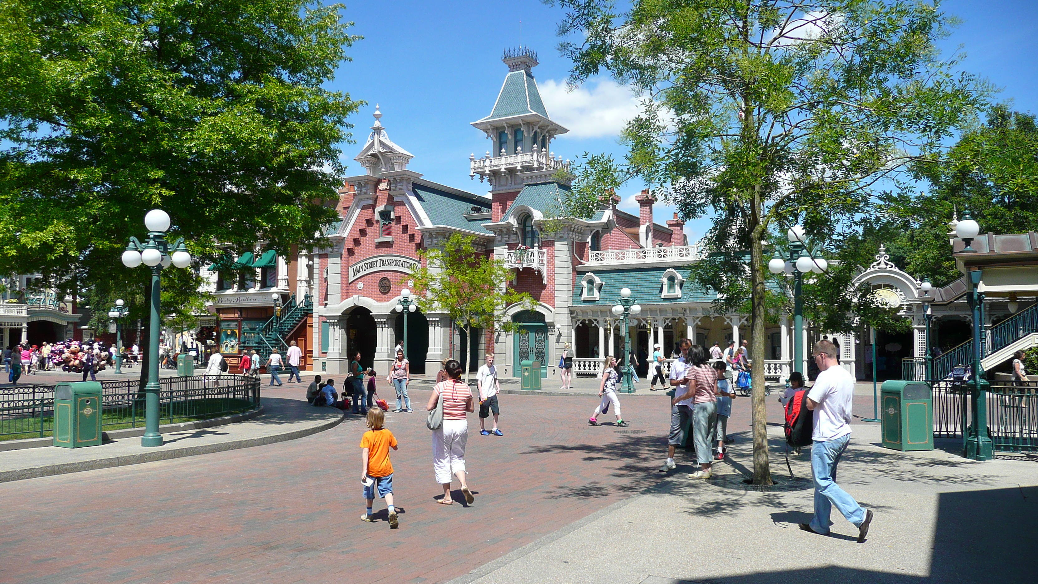
{"label": "pale concrete sidewalk under the walking man in jeans, partly shadowed", "polygon": [[769,490],[742,483],[753,464],[748,443],[734,445],[708,481],[689,477],[693,464],[684,455],[672,477],[640,496],[450,584],[1034,582],[1033,458],[901,453],[877,446],[877,426],[855,425],[840,483],[875,512],[858,545],[857,529],[835,509],[830,536],[798,529],[813,514],[809,449],[791,455],[791,479],[781,428],[770,427],[769,436],[778,482]]}

